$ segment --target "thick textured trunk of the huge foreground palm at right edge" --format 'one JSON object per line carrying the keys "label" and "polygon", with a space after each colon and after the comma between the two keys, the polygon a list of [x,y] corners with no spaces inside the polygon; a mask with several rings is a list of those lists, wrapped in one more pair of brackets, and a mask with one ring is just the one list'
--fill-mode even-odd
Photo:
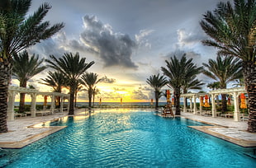
{"label": "thick textured trunk of the huge foreground palm at right edge", "polygon": [[249,97],[247,130],[250,133],[256,133],[256,65],[252,62],[244,63],[244,82]]}

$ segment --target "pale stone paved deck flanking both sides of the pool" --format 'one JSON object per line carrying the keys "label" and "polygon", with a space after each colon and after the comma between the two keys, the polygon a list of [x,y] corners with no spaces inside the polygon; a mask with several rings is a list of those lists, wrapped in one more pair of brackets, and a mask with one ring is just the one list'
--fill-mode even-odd
{"label": "pale stone paved deck flanking both sides of the pool", "polygon": [[[85,115],[83,110],[75,110],[75,115]],[[47,121],[63,118],[67,113],[52,114],[47,116],[38,116],[31,118],[29,116],[17,118],[14,121],[7,122],[8,133],[0,133],[0,147],[2,148],[21,148],[40,138],[45,138],[51,133],[55,133],[64,127],[38,127],[36,124],[42,124]],[[233,119],[212,118],[191,113],[182,113],[187,119],[193,119],[202,123],[211,124],[211,126],[191,126],[201,132],[209,133],[226,141],[233,142],[243,147],[256,147],[256,133],[248,133],[247,122],[235,122]]]}

